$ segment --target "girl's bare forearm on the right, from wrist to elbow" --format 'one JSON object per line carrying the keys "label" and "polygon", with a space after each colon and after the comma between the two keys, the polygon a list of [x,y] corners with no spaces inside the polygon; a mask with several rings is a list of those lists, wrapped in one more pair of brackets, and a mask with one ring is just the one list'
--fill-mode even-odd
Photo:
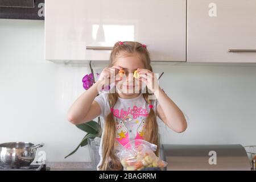
{"label": "girl's bare forearm on the right, from wrist to elbow", "polygon": [[155,97],[158,99],[160,106],[164,112],[167,120],[167,125],[180,133],[187,129],[187,121],[184,114],[179,109],[179,107],[168,97],[162,89],[156,89],[154,92]]}

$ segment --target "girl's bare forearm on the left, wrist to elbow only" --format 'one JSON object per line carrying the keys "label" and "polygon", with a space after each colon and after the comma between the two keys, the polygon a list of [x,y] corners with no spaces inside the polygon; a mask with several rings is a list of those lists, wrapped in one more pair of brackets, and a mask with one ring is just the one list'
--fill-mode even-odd
{"label": "girl's bare forearm on the left, wrist to elbow only", "polygon": [[100,84],[97,81],[93,84],[88,90],[81,94],[79,98],[73,103],[73,105],[68,110],[68,119],[69,121],[80,121],[88,113],[90,106],[94,98],[98,94],[98,85]]}

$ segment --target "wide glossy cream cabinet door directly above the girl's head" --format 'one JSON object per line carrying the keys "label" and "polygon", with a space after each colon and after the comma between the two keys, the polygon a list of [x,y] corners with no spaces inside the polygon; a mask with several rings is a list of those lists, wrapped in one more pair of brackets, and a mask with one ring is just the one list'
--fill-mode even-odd
{"label": "wide glossy cream cabinet door directly above the girl's head", "polygon": [[185,0],[46,0],[46,59],[109,60],[127,40],[146,44],[151,60],[185,61],[185,12]]}

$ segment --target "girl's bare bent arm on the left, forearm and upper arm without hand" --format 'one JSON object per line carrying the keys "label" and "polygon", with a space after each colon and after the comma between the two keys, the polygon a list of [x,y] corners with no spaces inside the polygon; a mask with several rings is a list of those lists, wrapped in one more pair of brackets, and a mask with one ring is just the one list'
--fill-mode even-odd
{"label": "girl's bare bent arm on the left, forearm and upper arm without hand", "polygon": [[98,94],[97,87],[100,81],[93,84],[88,90],[81,94],[68,110],[68,121],[79,125],[88,122],[101,114],[101,107],[94,98]]}

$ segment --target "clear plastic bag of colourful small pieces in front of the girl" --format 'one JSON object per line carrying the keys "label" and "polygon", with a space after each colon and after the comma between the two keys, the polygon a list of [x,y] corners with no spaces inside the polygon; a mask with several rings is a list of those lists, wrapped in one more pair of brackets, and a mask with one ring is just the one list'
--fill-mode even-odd
{"label": "clear plastic bag of colourful small pieces in front of the girl", "polygon": [[167,162],[155,155],[156,145],[146,140],[135,139],[117,153],[124,171],[149,170],[167,166]]}

